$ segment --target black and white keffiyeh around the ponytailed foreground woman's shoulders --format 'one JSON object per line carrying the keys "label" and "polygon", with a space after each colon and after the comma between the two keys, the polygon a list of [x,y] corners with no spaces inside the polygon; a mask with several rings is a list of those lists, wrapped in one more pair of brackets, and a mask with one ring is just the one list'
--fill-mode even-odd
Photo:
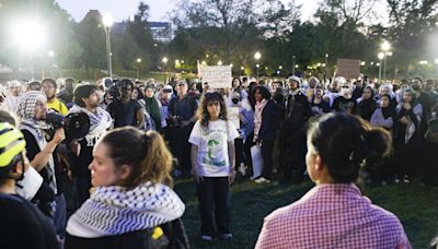
{"label": "black and white keffiyeh around the ponytailed foreground woman's shoulders", "polygon": [[99,187],[70,217],[67,232],[82,238],[122,235],[178,218],[184,210],[178,195],[161,183]]}

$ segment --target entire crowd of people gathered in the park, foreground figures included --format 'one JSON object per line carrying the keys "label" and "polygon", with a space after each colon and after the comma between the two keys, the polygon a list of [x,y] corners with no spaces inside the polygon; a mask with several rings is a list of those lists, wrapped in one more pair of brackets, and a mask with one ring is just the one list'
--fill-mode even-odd
{"label": "entire crowd of people gathered in the park, foreground figures included", "polygon": [[176,78],[11,81],[0,93],[1,216],[32,216],[16,229],[35,236],[0,246],[187,248],[180,177],[194,178],[200,239],[232,239],[239,174],[316,185],[265,218],[256,248],[410,248],[400,221],[354,182],[438,185],[436,90],[419,76],[235,78],[220,90]]}

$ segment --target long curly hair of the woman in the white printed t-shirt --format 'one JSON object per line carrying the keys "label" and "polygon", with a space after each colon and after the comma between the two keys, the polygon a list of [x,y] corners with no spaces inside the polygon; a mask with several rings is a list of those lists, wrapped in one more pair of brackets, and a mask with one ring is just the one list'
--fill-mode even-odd
{"label": "long curly hair of the woman in the white printed t-shirt", "polygon": [[208,103],[210,103],[210,102],[219,103],[219,105],[220,105],[219,119],[222,119],[224,121],[228,120],[227,105],[226,105],[226,102],[223,100],[223,96],[217,92],[206,93],[203,96],[203,98],[200,99],[200,105],[197,110],[198,120],[200,121],[200,124],[206,128],[208,128],[208,120],[210,119],[210,116],[207,110]]}

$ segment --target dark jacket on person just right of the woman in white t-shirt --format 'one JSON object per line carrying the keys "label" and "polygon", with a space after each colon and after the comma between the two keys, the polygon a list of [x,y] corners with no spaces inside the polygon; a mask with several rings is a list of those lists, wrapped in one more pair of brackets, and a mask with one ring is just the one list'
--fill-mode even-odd
{"label": "dark jacket on person just right of the woman in white t-shirt", "polygon": [[278,108],[273,99],[269,99],[262,111],[262,127],[258,131],[260,140],[275,140],[279,122]]}

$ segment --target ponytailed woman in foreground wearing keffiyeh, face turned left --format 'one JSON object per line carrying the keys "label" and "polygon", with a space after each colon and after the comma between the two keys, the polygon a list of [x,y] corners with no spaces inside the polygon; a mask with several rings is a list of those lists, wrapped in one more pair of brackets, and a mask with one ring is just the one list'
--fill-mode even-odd
{"label": "ponytailed woman in foreground wearing keffiyeh, face turned left", "polygon": [[[123,144],[124,146],[120,146]],[[118,128],[93,151],[90,199],[67,224],[66,248],[162,248],[174,244],[165,223],[180,218],[184,203],[171,189],[172,155],[157,132]],[[180,223],[186,245],[184,227]],[[174,235],[175,233],[173,233]]]}

